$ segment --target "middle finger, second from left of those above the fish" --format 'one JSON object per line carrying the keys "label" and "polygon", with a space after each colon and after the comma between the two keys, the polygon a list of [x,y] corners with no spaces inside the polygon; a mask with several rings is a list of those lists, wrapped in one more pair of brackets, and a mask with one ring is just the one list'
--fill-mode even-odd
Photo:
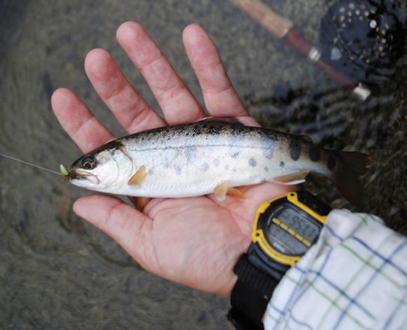
{"label": "middle finger, second from left of those above the fish", "polygon": [[96,93],[128,133],[166,126],[131,86],[107,51],[100,48],[90,51],[86,55],[85,70]]}

